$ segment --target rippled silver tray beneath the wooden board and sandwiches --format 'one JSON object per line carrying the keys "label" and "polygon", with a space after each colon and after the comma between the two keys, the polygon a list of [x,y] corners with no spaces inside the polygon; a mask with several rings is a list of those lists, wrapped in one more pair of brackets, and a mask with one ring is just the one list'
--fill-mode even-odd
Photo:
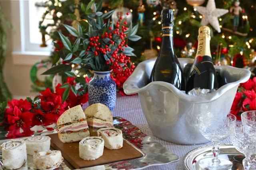
{"label": "rippled silver tray beneath the wooden board and sandwiches", "polygon": [[[130,121],[121,117],[113,117],[114,127],[122,130],[123,137],[130,145],[142,152],[143,156],[132,160],[124,160],[120,162],[114,162],[111,164],[105,164],[100,166],[93,166],[89,168],[81,168],[80,170],[141,170],[149,166],[157,166],[168,164],[179,160],[178,156],[170,152],[170,150],[163,147],[160,143],[155,142],[150,136],[142,133],[138,127],[132,125]],[[32,136],[37,135],[49,135],[57,133],[54,131],[40,131],[35,132]],[[0,140],[0,144],[8,140]],[[17,170],[33,170],[33,156],[28,155],[27,162]],[[2,152],[0,152],[0,170],[4,169],[2,166]],[[64,161],[56,170],[70,170],[74,169],[72,166]]]}

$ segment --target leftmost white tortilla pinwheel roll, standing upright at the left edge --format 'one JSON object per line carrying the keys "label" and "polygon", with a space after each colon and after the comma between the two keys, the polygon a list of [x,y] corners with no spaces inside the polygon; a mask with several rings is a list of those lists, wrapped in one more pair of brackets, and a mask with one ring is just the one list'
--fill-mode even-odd
{"label": "leftmost white tortilla pinwheel roll, standing upright at the left edge", "polygon": [[17,169],[27,160],[24,140],[10,140],[1,145],[3,164],[6,169]]}

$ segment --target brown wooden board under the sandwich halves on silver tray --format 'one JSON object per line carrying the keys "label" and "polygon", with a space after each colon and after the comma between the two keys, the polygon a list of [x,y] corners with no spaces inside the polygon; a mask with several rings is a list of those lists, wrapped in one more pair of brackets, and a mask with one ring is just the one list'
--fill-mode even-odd
{"label": "brown wooden board under the sandwich halves on silver tray", "polygon": [[51,147],[55,150],[60,150],[62,156],[76,169],[110,164],[143,156],[141,152],[129,145],[127,141],[124,141],[121,149],[107,149],[104,147],[103,155],[100,158],[96,160],[83,160],[79,157],[79,142],[62,143],[58,138],[58,134],[47,136],[51,138]]}

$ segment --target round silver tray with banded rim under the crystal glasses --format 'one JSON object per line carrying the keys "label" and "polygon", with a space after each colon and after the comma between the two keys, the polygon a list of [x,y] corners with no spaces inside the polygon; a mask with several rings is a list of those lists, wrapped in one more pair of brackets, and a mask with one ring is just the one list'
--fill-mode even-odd
{"label": "round silver tray with banded rim under the crystal glasses", "polygon": [[[183,166],[186,170],[204,170],[196,166],[196,162],[205,156],[212,156],[213,145],[204,145],[188,152],[183,159]],[[244,170],[242,160],[244,154],[234,148],[232,143],[222,143],[219,145],[220,154],[218,157],[226,158],[233,163],[229,170]],[[255,156],[255,155],[254,155]],[[250,170],[254,170],[250,168]]]}

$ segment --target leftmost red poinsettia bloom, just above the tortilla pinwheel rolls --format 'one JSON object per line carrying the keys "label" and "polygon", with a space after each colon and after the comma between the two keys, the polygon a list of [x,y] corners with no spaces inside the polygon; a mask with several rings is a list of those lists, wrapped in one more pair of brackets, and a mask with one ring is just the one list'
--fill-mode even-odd
{"label": "leftmost red poinsettia bloom, just above the tortilla pinwheel rolls", "polygon": [[25,111],[21,112],[17,106],[14,106],[13,115],[7,114],[8,125],[7,130],[16,129],[16,127],[28,128],[32,125],[33,114]]}

